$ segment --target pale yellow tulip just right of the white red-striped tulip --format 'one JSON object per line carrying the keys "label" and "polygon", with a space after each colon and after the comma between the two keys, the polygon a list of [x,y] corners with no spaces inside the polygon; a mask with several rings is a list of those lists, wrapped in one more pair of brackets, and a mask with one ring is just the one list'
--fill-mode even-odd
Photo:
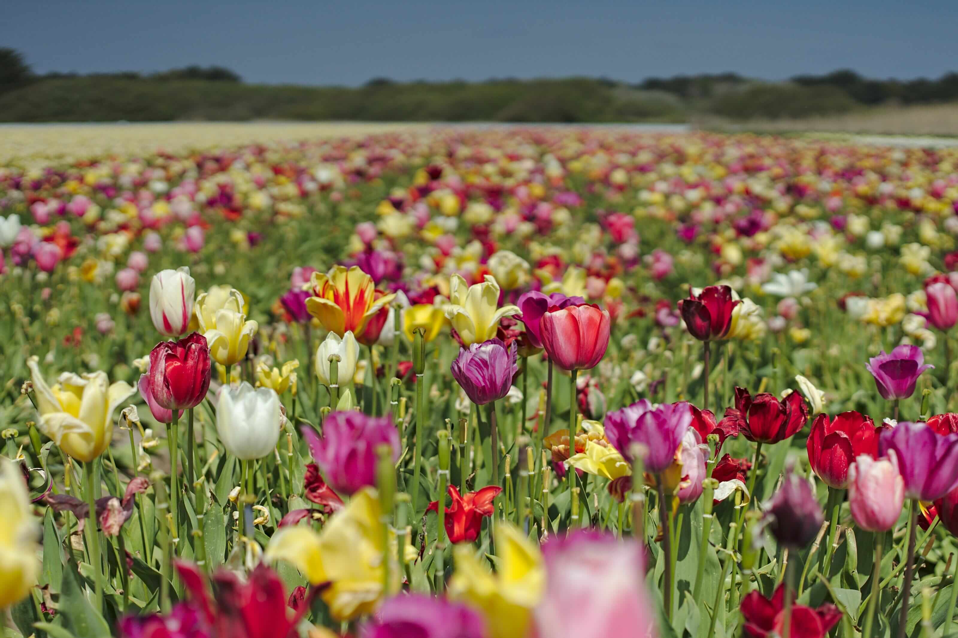
{"label": "pale yellow tulip just right of the white red-striped tulip", "polygon": [[196,298],[196,321],[210,345],[210,356],[221,366],[232,366],[246,357],[250,338],[260,325],[246,321],[242,295],[231,288],[226,295],[209,290]]}

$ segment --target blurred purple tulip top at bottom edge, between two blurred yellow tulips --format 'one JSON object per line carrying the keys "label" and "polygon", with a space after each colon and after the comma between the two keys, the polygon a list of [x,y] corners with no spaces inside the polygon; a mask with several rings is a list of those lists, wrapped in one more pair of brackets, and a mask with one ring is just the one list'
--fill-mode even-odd
{"label": "blurred purple tulip top at bottom edge, between two blurred yellow tulips", "polygon": [[485,638],[485,619],[467,605],[424,594],[391,598],[360,638]]}

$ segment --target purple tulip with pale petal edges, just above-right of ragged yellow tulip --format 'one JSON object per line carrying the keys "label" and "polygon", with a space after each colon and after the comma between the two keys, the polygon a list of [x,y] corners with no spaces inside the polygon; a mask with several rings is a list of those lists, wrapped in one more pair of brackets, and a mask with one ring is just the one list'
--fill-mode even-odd
{"label": "purple tulip with pale petal edges, just above-right of ragged yellow tulip", "polygon": [[687,402],[663,403],[652,409],[649,399],[642,399],[605,415],[605,437],[629,463],[632,445],[645,445],[646,469],[658,474],[672,465],[691,424],[692,409]]}

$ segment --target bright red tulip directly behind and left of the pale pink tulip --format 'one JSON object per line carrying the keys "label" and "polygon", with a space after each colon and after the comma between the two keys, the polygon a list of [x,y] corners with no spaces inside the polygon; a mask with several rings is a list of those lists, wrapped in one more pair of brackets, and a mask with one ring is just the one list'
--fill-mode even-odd
{"label": "bright red tulip directly behind and left of the pale pink tulip", "polygon": [[861,454],[878,458],[878,433],[871,417],[842,412],[830,420],[820,414],[811,423],[806,447],[812,471],[832,488],[848,487],[848,468]]}

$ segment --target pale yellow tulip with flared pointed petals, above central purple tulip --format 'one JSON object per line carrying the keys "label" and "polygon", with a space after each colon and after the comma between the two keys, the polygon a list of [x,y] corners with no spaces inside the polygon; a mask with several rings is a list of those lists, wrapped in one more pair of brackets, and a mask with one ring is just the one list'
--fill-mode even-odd
{"label": "pale yellow tulip with flared pointed petals, above central purple tulip", "polygon": [[453,275],[449,280],[449,306],[445,316],[459,333],[464,346],[482,343],[495,336],[499,320],[519,313],[512,304],[499,305],[499,285],[495,277],[486,275],[482,284],[466,285],[466,280]]}

